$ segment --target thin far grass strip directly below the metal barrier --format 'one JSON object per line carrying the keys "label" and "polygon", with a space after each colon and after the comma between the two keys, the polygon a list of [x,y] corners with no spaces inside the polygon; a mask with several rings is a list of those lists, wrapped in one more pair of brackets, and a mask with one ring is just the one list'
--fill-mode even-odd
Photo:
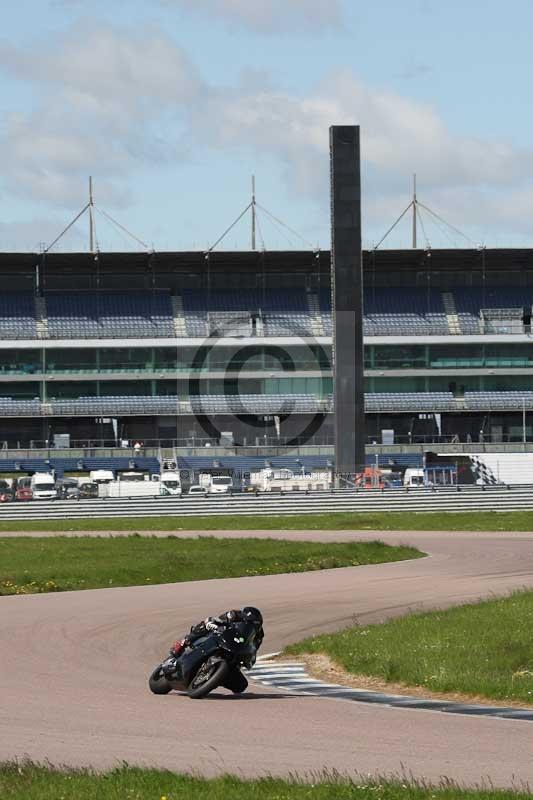
{"label": "thin far grass strip directly below the metal barrier", "polygon": [[413,514],[377,512],[294,516],[114,517],[111,519],[1,521],[2,531],[216,531],[216,530],[376,530],[531,531],[531,511]]}

